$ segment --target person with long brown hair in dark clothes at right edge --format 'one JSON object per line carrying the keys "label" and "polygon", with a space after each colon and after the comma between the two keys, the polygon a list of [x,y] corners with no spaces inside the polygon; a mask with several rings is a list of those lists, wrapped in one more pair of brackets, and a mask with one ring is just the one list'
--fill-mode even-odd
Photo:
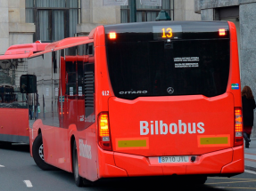
{"label": "person with long brown hair in dark clothes at right edge", "polygon": [[244,140],[245,148],[249,148],[251,142],[251,133],[254,120],[253,109],[256,107],[252,90],[249,86],[245,85],[242,91],[242,105],[243,105],[243,118],[244,118]]}

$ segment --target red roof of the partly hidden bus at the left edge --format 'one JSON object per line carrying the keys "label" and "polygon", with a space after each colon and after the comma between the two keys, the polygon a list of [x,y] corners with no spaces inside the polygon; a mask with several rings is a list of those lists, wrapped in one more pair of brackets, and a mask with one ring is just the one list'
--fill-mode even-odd
{"label": "red roof of the partly hidden bus at the left edge", "polygon": [[10,46],[4,55],[0,56],[0,60],[29,58],[34,52],[44,51],[46,45],[48,43],[15,44]]}

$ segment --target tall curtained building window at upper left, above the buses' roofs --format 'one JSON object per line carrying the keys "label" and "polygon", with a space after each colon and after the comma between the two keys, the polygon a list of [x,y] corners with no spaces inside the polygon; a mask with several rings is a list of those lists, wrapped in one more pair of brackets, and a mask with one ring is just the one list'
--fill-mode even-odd
{"label": "tall curtained building window at upper left, above the buses' roofs", "polygon": [[81,0],[26,0],[26,22],[36,25],[34,41],[75,36],[80,18]]}

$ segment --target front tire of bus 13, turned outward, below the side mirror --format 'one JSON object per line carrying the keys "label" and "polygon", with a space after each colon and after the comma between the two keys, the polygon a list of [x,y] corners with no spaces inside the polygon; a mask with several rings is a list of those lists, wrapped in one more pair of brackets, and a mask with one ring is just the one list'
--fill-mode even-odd
{"label": "front tire of bus 13, turned outward, below the side mirror", "polygon": [[40,169],[44,171],[49,171],[54,169],[52,165],[45,163],[42,133],[38,134],[37,138],[34,140],[34,143],[32,146],[32,154],[33,154],[35,163],[37,163],[37,166]]}

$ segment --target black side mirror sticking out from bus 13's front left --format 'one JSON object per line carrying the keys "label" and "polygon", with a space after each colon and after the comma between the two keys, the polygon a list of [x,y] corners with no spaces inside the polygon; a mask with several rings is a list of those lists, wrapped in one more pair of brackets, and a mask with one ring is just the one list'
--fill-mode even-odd
{"label": "black side mirror sticking out from bus 13's front left", "polygon": [[21,93],[36,93],[37,92],[37,76],[22,75],[20,79]]}

